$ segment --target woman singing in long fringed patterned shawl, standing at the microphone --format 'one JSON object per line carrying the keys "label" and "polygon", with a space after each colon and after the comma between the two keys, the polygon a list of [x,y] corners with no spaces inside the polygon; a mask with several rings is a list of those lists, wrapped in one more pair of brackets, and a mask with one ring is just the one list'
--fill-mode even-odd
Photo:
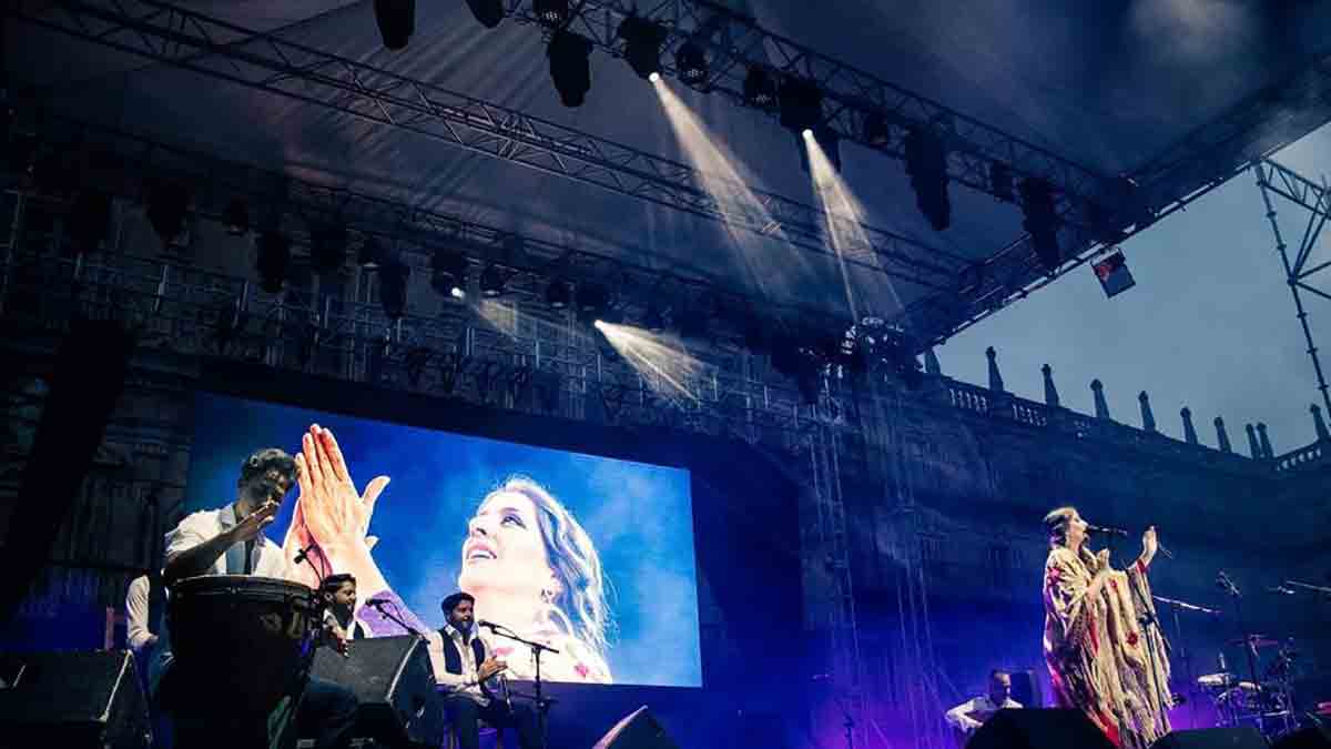
{"label": "woman singing in long fringed patterned shawl, standing at the microphone", "polygon": [[1154,624],[1146,572],[1158,548],[1155,529],[1126,570],[1109,550],[1085,546],[1086,521],[1075,508],[1045,516],[1045,661],[1058,705],[1077,708],[1115,746],[1146,749],[1170,730],[1169,658]]}

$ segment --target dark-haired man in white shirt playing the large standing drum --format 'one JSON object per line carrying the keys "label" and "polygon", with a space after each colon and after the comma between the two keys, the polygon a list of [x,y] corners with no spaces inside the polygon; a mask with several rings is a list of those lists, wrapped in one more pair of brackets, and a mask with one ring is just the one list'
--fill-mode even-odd
{"label": "dark-haired man in white shirt playing the large standing drum", "polygon": [[[293,578],[282,548],[268,538],[264,529],[273,522],[295,478],[295,461],[281,449],[265,448],[249,456],[241,464],[234,502],[189,514],[166,533],[162,577],[168,589],[180,580],[201,574]],[[325,628],[322,638],[345,652],[345,636],[335,628]],[[168,709],[189,700],[189,685],[172,678],[172,660],[169,636],[164,632],[149,680],[153,698],[166,697]],[[311,677],[297,714],[299,733],[315,737],[321,749],[346,746],[357,706],[350,690]],[[214,708],[226,710],[225,705]],[[180,730],[177,737],[177,744],[184,745]]]}

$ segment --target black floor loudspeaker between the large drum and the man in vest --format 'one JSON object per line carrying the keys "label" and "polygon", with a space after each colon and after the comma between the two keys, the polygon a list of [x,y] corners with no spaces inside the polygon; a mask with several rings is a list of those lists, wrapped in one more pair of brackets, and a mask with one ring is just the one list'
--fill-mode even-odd
{"label": "black floor loudspeaker between the large drum and the man in vest", "polygon": [[354,736],[443,745],[443,709],[435,694],[430,653],[421,637],[353,640],[345,657],[319,648],[310,674],[350,689],[361,701]]}

